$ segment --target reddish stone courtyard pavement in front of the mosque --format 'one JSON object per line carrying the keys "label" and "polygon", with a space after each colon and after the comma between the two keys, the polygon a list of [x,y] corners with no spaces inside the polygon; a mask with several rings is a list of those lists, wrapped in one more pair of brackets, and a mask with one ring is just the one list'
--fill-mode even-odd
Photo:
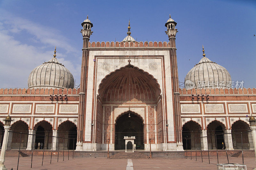
{"label": "reddish stone courtyard pavement in front of the mosque", "polygon": [[[191,169],[191,170],[208,170],[217,169],[217,158],[211,156],[210,164],[208,162],[208,156],[203,157],[203,162],[201,157],[186,158],[153,158],[153,159],[107,159],[107,158],[68,158],[65,156],[59,157],[59,162],[57,162],[57,157],[52,157],[52,164],[50,164],[49,156],[44,157],[44,164],[42,166],[42,156],[34,156],[32,169],[37,170],[62,170],[62,169],[90,169],[90,170],[141,170],[141,169]],[[228,157],[230,163],[240,163],[242,164],[242,157],[234,158]],[[4,165],[8,170],[13,168],[17,169],[17,157],[6,157]],[[219,157],[219,163],[227,163],[227,157]],[[245,157],[244,164],[247,165],[247,170],[252,170],[255,166],[255,157]],[[31,169],[31,156],[30,157],[20,157],[19,169]]]}

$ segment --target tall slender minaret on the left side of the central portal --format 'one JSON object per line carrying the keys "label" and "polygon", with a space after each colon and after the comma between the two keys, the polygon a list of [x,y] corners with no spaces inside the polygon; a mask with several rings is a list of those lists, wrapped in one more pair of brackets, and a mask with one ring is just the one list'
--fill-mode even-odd
{"label": "tall slender minaret on the left side of the central portal", "polygon": [[76,151],[82,151],[83,150],[83,127],[84,127],[84,116],[85,116],[85,108],[86,108],[86,73],[88,70],[88,42],[90,40],[90,36],[93,33],[92,23],[87,18],[82,23],[83,29],[81,29],[81,33],[83,35],[83,54],[82,54],[82,66],[81,66],[81,80],[80,80],[80,93],[79,93],[79,110],[78,110],[78,125],[77,125],[77,143],[76,143]]}

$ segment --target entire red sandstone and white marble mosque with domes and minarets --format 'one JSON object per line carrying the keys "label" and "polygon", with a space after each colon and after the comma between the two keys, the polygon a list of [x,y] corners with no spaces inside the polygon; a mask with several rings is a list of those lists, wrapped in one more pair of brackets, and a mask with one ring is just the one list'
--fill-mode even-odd
{"label": "entire red sandstone and white marble mosque with domes and minarets", "polygon": [[[0,142],[4,118],[12,117],[7,149],[106,151],[125,149],[124,136],[134,136],[136,149],[253,149],[249,117],[256,114],[256,89],[233,88],[228,70],[202,59],[180,88],[176,56],[177,23],[165,23],[168,42],[90,42],[93,24],[82,23],[80,88],[56,58],[31,71],[28,88],[0,89]],[[215,137],[216,133],[228,132]],[[236,132],[244,132],[241,135]],[[57,136],[61,139],[48,137]],[[200,138],[202,137],[202,138]],[[66,138],[66,139],[64,139]],[[68,139],[69,138],[69,139]],[[186,140],[185,140],[186,139]],[[10,142],[11,141],[11,142]],[[127,146],[128,147],[128,146]]]}

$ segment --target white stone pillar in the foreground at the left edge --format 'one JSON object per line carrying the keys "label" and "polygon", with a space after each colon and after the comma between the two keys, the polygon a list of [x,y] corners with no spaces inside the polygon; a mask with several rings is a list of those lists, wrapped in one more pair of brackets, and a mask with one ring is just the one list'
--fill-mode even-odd
{"label": "white stone pillar in the foreground at the left edge", "polygon": [[6,152],[6,147],[8,143],[8,130],[11,128],[11,126],[4,126],[4,139],[3,139],[3,144],[2,144],[2,149],[1,149],[1,154],[0,154],[0,170],[7,170],[7,168],[4,165],[5,161],[5,152]]}

